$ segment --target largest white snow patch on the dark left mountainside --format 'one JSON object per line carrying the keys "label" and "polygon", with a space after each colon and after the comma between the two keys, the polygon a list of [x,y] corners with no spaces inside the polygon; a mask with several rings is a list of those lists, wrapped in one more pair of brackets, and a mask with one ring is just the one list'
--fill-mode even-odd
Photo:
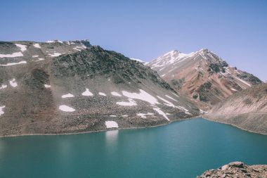
{"label": "largest white snow patch on the dark left mountainside", "polygon": [[130,93],[128,91],[122,91],[122,94],[124,96],[127,96],[128,98],[133,98],[133,99],[140,99],[143,101],[147,101],[148,103],[155,105],[155,104],[159,104],[159,102],[157,102],[157,98],[155,98],[154,96],[148,94],[148,92],[143,91],[143,89],[139,89],[140,93]]}

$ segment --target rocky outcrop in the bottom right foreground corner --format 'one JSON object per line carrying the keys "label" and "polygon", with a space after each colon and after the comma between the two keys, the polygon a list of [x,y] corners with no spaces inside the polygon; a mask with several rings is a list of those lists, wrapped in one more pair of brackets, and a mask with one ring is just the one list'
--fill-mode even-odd
{"label": "rocky outcrop in the bottom right foreground corner", "polygon": [[245,165],[245,163],[242,162],[233,162],[228,165],[223,165],[216,170],[207,170],[201,176],[197,176],[197,178],[205,177],[266,178],[267,165]]}

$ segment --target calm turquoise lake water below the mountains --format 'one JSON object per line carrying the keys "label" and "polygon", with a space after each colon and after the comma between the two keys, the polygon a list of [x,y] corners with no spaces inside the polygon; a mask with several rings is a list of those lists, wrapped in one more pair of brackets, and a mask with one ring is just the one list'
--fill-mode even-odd
{"label": "calm turquoise lake water below the mountains", "polygon": [[267,136],[203,119],[91,134],[0,139],[0,177],[196,177],[267,164]]}

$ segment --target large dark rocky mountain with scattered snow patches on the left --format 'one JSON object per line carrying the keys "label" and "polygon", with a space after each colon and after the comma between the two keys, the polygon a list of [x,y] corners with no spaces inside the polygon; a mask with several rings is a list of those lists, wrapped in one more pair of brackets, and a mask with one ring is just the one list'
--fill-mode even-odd
{"label": "large dark rocky mountain with scattered snow patches on the left", "polygon": [[198,113],[157,72],[88,40],[0,42],[0,136],[148,127]]}

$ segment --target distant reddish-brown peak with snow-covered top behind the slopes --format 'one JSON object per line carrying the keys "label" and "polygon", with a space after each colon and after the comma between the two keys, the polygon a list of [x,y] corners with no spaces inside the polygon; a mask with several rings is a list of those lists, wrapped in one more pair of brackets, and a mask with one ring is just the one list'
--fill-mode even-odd
{"label": "distant reddish-brown peak with snow-covered top behind the slopes", "polygon": [[254,75],[231,67],[208,49],[193,53],[170,51],[148,66],[204,110],[236,91],[261,83]]}

